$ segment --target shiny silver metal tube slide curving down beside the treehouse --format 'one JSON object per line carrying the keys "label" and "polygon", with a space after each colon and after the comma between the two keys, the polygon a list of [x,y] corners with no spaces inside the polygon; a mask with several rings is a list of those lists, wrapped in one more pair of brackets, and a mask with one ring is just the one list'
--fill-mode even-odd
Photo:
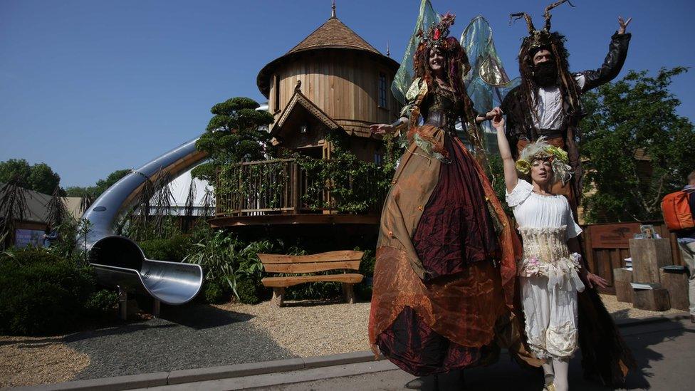
{"label": "shiny silver metal tube slide curving down beside the treehouse", "polygon": [[78,237],[78,246],[87,249],[100,283],[124,292],[147,293],[157,301],[173,305],[187,303],[198,294],[203,283],[199,265],[147,259],[134,241],[115,234],[116,224],[135,205],[147,179],[154,182],[164,174],[178,177],[207,157],[205,152],[196,150],[197,140],[133,170],[85,211],[82,217],[90,221],[90,229],[86,240]]}

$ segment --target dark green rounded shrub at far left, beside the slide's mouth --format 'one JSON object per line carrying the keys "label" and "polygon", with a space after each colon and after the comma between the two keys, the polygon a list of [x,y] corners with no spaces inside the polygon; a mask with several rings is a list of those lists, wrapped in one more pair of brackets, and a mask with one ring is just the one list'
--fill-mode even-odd
{"label": "dark green rounded shrub at far left, beside the slide's mouth", "polygon": [[93,271],[44,249],[0,256],[0,333],[36,335],[74,327],[88,312]]}

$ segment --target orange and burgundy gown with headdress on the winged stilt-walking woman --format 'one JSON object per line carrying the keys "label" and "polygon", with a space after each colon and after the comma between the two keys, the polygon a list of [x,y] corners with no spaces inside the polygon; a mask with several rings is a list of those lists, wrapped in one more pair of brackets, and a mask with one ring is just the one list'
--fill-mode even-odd
{"label": "orange and burgundy gown with headdress on the winged stilt-walking woman", "polygon": [[459,118],[474,126],[461,70],[449,75],[451,89],[422,71],[432,41],[446,50],[449,71],[452,63],[467,64],[458,41],[446,37],[450,24],[453,16],[444,16],[416,53],[415,68],[424,77],[406,94],[407,150],[382,212],[370,311],[372,347],[420,376],[488,363],[498,344],[524,352],[513,338],[519,335],[511,312],[515,236],[454,128]]}

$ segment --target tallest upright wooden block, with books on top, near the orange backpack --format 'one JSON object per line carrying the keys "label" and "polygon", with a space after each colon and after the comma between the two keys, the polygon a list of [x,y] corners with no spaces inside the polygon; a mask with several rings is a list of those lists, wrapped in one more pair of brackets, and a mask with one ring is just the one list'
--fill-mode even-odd
{"label": "tallest upright wooden block, with books on top, near the orange backpack", "polygon": [[632,279],[640,283],[659,283],[659,269],[673,264],[669,239],[629,239]]}

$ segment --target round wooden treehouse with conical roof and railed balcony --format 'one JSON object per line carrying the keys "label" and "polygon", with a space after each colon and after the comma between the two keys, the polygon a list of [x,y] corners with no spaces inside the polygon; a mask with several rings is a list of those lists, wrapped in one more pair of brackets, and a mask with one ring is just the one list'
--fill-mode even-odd
{"label": "round wooden treehouse with conical roof and railed balcony", "polygon": [[[399,114],[390,91],[398,66],[345,26],[334,8],[328,21],[258,73],[258,89],[274,117],[268,131],[287,158],[219,172],[216,216],[209,222],[234,229],[347,224],[376,231],[385,196],[377,185],[383,182],[369,170],[346,177],[350,167],[328,178],[325,165],[346,164],[336,160],[339,151],[374,163],[372,171],[382,164],[385,143],[369,125],[393,122]],[[356,199],[358,193],[365,199]]]}

